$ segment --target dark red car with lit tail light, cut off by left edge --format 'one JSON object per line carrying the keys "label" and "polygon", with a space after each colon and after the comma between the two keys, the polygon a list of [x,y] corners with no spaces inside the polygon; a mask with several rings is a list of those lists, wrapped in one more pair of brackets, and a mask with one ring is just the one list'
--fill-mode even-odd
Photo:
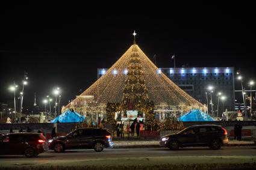
{"label": "dark red car with lit tail light, cut off by left edge", "polygon": [[40,133],[9,133],[0,137],[0,155],[33,157],[45,151],[48,151],[48,144]]}

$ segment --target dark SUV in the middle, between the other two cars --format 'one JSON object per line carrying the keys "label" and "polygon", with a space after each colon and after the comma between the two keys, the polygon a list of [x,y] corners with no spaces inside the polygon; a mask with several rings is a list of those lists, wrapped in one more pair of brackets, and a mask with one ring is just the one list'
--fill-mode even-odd
{"label": "dark SUV in the middle, between the other two cars", "polygon": [[107,129],[87,128],[50,139],[48,146],[57,153],[70,149],[94,149],[100,152],[104,148],[113,147],[113,142]]}

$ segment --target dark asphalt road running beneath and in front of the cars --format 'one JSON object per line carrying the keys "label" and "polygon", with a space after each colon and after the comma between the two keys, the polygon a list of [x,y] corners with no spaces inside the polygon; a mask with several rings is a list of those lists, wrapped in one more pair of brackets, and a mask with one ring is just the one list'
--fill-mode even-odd
{"label": "dark asphalt road running beneath and in front of the cars", "polygon": [[110,159],[110,158],[136,158],[136,157],[163,157],[163,156],[256,156],[256,147],[222,147],[220,150],[211,150],[207,147],[181,148],[171,151],[168,148],[107,148],[101,153],[94,150],[66,150],[63,153],[48,151],[38,157],[25,158],[23,156],[0,156],[4,160],[16,162],[17,160],[84,160],[84,159]]}

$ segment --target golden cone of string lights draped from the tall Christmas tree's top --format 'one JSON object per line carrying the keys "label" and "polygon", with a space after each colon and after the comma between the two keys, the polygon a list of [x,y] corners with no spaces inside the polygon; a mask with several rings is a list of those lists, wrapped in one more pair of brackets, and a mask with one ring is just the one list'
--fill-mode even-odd
{"label": "golden cone of string lights draped from the tall Christmas tree's top", "polygon": [[[127,70],[128,73],[125,72]],[[136,70],[139,71],[135,72]],[[133,44],[102,77],[87,88],[80,95],[81,97],[76,97],[66,105],[63,111],[73,108],[81,114],[86,112],[105,114],[108,103],[126,103],[128,102],[126,97],[131,93],[135,96],[129,96],[129,100],[134,103],[149,99],[154,105],[161,105],[164,102],[169,108],[180,109],[183,112],[194,108],[205,111],[204,105],[181,90],[163,73],[157,73],[157,71],[158,68],[140,47]],[[130,78],[127,78],[129,76]],[[82,96],[93,96],[93,100],[88,102]]]}

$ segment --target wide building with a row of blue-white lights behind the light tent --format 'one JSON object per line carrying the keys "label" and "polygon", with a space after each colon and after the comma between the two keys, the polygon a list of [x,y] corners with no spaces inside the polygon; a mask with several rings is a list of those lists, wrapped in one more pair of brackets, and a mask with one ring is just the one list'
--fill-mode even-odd
{"label": "wide building with a row of blue-white lights behind the light tent", "polygon": [[[98,68],[98,79],[107,70],[108,68]],[[234,111],[234,67],[158,68],[157,73],[164,73],[176,85],[202,104],[207,105],[208,103],[209,113],[212,112],[211,108],[213,108],[214,114],[217,115],[218,103],[219,116],[225,109]],[[208,90],[210,86],[213,87],[211,91]],[[221,96],[225,96],[225,98],[218,96],[218,93],[221,93]]]}

